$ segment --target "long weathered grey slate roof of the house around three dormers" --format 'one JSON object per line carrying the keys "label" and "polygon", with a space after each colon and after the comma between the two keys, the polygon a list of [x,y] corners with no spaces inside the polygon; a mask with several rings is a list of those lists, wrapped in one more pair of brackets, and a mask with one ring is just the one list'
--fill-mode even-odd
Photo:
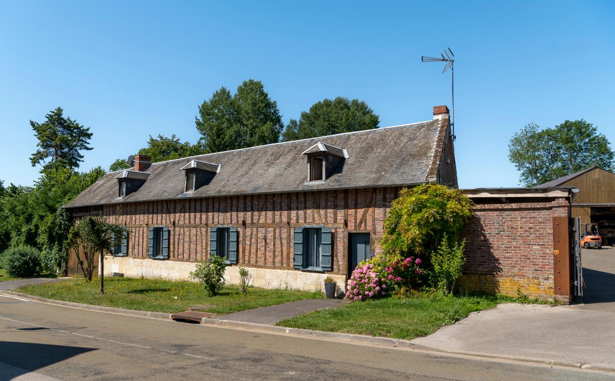
{"label": "long weathered grey slate roof of the house around three dormers", "polygon": [[[427,182],[438,139],[446,136],[441,119],[373,130],[296,140],[293,142],[210,153],[190,158],[154,162],[146,169],[148,180],[134,193],[117,199],[116,176],[109,172],[65,207],[129,203],[179,197],[250,195],[290,191],[333,190],[373,186],[415,185]],[[323,183],[306,183],[307,159],[303,153],[322,142],[345,149],[348,158],[339,173]],[[220,164],[210,183],[189,195],[183,166],[192,160]]]}

